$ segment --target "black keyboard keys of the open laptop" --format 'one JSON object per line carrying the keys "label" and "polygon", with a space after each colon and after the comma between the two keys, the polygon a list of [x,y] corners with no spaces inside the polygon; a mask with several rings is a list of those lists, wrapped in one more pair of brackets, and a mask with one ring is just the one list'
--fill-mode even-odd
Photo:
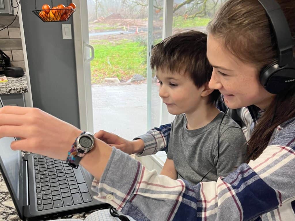
{"label": "black keyboard keys of the open laptop", "polygon": [[81,169],[42,155],[34,155],[34,167],[39,211],[92,201]]}

